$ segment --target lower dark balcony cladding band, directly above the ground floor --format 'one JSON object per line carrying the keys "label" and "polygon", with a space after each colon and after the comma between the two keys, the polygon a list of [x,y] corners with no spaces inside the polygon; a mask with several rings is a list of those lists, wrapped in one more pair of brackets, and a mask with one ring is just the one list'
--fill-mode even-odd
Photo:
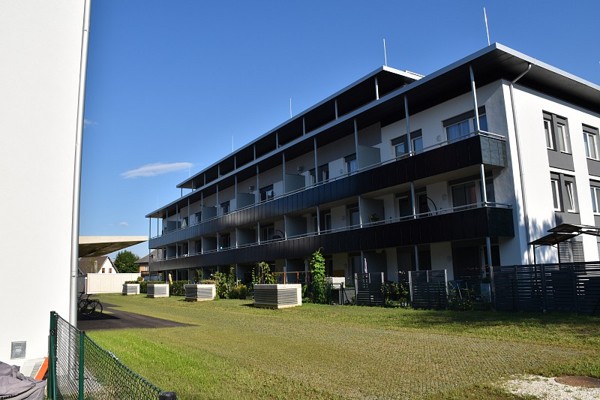
{"label": "lower dark balcony cladding band, directly above the ground floor", "polygon": [[269,242],[238,249],[153,262],[152,270],[246,264],[283,258],[305,258],[322,248],[325,254],[375,250],[452,240],[513,237],[509,208],[473,208],[395,223],[296,239]]}

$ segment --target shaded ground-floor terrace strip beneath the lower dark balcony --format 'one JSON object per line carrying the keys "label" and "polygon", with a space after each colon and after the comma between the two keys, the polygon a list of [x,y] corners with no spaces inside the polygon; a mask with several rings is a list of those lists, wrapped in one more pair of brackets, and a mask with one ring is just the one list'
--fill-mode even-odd
{"label": "shaded ground-floor terrace strip beneath the lower dark balcony", "polygon": [[[359,238],[360,239],[360,238]],[[382,273],[386,281],[402,281],[407,271],[446,270],[449,280],[479,280],[492,265],[500,265],[500,242],[494,238],[448,241],[411,246],[373,248],[369,250],[328,252],[320,247],[325,256],[326,274],[345,278],[346,286],[354,286],[354,275],[364,272]],[[252,280],[252,271],[258,262],[269,264],[279,283],[302,283],[309,277],[309,260],[312,248],[302,257],[261,258],[253,262],[214,263],[198,265],[197,256],[176,260],[158,261],[151,264],[151,274],[173,280],[199,281],[210,279],[215,272],[230,273],[244,283]],[[491,251],[488,257],[488,251]]]}

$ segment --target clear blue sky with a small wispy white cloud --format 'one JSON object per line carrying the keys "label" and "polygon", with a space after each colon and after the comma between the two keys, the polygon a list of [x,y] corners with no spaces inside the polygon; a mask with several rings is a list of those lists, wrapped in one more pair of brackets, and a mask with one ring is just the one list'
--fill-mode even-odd
{"label": "clear blue sky with a small wispy white cloud", "polygon": [[[147,235],[176,185],[384,63],[429,74],[490,38],[600,83],[600,2],[94,0],[81,235]],[[139,256],[147,245],[131,248]]]}

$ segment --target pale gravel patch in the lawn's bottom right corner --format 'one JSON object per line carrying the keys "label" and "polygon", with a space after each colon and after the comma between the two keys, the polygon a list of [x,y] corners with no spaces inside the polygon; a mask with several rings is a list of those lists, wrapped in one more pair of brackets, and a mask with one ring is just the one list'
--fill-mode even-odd
{"label": "pale gravel patch in the lawn's bottom right corner", "polygon": [[505,382],[502,387],[517,395],[535,396],[543,400],[598,400],[600,388],[564,385],[556,378],[525,375]]}

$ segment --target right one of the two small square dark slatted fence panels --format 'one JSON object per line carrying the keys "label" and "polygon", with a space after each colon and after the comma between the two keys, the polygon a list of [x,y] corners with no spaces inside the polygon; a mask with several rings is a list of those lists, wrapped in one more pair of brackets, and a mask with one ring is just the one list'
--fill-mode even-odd
{"label": "right one of the two small square dark slatted fence panels", "polygon": [[410,298],[413,308],[448,308],[446,270],[409,271]]}

